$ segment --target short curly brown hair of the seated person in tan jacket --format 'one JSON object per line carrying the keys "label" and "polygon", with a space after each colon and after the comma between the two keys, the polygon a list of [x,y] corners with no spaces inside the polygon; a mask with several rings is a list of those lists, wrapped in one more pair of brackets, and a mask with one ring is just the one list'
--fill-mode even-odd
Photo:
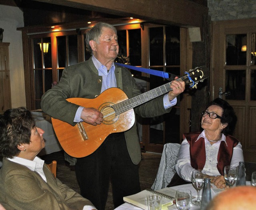
{"label": "short curly brown hair of the seated person in tan jacket", "polygon": [[20,144],[30,144],[31,130],[36,126],[30,111],[24,107],[8,109],[0,115],[0,154],[12,158],[20,153]]}

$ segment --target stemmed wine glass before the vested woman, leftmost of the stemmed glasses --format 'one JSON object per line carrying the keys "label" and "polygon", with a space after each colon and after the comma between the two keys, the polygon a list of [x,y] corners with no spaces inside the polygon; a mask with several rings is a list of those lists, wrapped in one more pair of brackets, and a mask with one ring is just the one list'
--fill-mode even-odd
{"label": "stemmed wine glass before the vested woman, leftmost of the stemmed glasses", "polygon": [[205,171],[201,169],[193,170],[192,172],[192,184],[197,192],[197,200],[194,200],[192,203],[195,205],[200,205],[200,190],[204,186],[204,178],[205,178]]}

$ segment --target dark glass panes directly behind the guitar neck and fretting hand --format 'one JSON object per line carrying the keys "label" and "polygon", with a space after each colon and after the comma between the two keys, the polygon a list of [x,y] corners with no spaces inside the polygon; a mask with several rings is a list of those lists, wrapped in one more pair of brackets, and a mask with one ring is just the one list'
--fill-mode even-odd
{"label": "dark glass panes directly behind the guitar neck and fretting hand", "polygon": [[[180,28],[160,26],[149,28],[149,67],[180,75]],[[168,83],[162,77],[150,75],[150,89]],[[170,113],[150,119],[150,143],[180,143],[179,98]]]}

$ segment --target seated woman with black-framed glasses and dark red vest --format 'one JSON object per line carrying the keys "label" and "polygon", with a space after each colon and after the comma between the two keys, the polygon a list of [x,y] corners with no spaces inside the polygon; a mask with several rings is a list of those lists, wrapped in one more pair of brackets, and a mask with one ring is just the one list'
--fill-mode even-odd
{"label": "seated woman with black-framed glasses and dark red vest", "polygon": [[[202,112],[202,132],[186,133],[181,143],[175,170],[191,182],[192,171],[203,169],[217,188],[225,188],[224,166],[244,161],[242,145],[231,136],[236,114],[229,103],[217,98]],[[174,186],[173,180],[168,186]]]}

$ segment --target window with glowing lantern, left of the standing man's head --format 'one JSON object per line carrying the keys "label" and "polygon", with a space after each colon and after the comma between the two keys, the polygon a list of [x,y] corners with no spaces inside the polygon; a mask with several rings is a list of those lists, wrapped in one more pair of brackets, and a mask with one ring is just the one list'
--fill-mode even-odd
{"label": "window with glowing lantern, left of the standing man's head", "polygon": [[[76,32],[30,36],[33,46],[34,99],[33,109],[40,109],[42,95],[60,81],[65,67],[78,63],[78,35]],[[44,47],[48,50],[44,51]],[[52,52],[54,49],[54,52]]]}

